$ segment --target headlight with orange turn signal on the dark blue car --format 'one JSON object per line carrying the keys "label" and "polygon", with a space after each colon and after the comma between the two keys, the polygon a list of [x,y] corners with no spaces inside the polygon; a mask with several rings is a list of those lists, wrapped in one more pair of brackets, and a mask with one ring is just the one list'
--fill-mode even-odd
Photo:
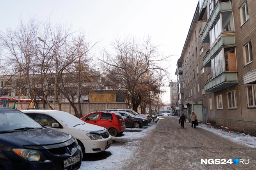
{"label": "headlight with orange turn signal on the dark blue car", "polygon": [[41,151],[32,150],[32,149],[21,149],[13,148],[12,151],[16,153],[21,158],[28,161],[45,161],[46,158]]}

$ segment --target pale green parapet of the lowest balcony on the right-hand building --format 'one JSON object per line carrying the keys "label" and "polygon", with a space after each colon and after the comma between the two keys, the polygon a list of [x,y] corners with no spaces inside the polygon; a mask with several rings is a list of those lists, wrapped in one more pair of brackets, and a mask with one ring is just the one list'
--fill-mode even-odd
{"label": "pale green parapet of the lowest balcony on the right-hand building", "polygon": [[217,92],[238,83],[238,73],[220,73],[204,83],[205,92]]}

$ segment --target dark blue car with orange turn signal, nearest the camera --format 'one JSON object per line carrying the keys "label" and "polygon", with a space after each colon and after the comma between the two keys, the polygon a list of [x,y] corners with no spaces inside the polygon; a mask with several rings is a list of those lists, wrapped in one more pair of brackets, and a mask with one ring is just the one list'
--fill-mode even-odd
{"label": "dark blue car with orange turn signal, nearest the camera", "polygon": [[77,170],[82,157],[75,137],[45,128],[21,111],[0,107],[1,170]]}

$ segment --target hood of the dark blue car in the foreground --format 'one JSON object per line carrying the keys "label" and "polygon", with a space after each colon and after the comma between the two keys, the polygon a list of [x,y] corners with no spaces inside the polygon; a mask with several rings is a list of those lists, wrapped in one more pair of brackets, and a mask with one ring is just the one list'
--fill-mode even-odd
{"label": "hood of the dark blue car in the foreground", "polygon": [[66,142],[71,139],[71,135],[43,128],[0,134],[0,138],[25,147],[25,145],[50,145]]}

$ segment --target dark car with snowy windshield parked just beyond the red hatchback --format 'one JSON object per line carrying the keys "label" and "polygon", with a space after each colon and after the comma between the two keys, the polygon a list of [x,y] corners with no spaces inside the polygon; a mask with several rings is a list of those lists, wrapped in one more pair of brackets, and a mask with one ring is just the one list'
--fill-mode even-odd
{"label": "dark car with snowy windshield parked just beyond the red hatchback", "polygon": [[148,120],[145,118],[134,116],[126,111],[116,111],[115,113],[119,113],[123,116],[126,127],[141,128],[148,126]]}

